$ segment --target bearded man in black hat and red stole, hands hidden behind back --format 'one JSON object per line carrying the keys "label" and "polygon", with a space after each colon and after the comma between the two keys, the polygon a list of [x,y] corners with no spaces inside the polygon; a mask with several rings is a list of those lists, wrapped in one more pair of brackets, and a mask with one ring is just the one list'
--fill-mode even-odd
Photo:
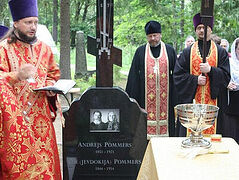
{"label": "bearded man in black hat and red stole, hands hidden behind back", "polygon": [[134,55],[130,68],[126,92],[145,108],[148,138],[174,136],[174,106],[177,99],[173,69],[176,52],[161,41],[161,25],[149,21],[145,25],[148,43],[140,46]]}

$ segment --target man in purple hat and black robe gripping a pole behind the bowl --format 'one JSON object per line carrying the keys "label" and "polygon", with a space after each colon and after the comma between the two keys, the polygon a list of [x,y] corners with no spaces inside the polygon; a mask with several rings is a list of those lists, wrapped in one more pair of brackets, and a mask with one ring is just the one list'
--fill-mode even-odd
{"label": "man in purple hat and black robe gripping a pole behind the bowl", "polygon": [[[225,49],[210,40],[213,17],[207,29],[206,62],[202,62],[204,25],[200,14],[193,18],[198,38],[192,46],[183,50],[174,69],[174,82],[180,103],[211,104],[219,106],[215,124],[203,134],[222,133],[222,110],[227,104],[226,87],[230,80],[229,58]],[[204,74],[204,75],[203,75]],[[186,129],[179,123],[179,136],[186,135]]]}

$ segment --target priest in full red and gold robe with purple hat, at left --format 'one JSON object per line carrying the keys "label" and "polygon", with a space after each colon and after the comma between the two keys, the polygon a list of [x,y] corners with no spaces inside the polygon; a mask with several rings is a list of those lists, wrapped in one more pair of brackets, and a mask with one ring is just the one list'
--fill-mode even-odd
{"label": "priest in full red and gold robe with purple hat, at left", "polygon": [[61,179],[53,121],[60,70],[35,34],[37,0],[10,0],[13,27],[0,42],[0,179]]}

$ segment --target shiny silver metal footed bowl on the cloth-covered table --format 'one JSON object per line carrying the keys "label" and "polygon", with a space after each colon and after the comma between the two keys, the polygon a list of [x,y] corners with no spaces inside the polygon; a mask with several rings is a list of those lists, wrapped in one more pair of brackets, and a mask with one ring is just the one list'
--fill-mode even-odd
{"label": "shiny silver metal footed bowl on the cloth-covered table", "polygon": [[219,108],[208,104],[180,104],[175,107],[180,123],[192,131],[190,138],[182,142],[183,147],[210,147],[203,139],[202,131],[210,128],[218,115]]}

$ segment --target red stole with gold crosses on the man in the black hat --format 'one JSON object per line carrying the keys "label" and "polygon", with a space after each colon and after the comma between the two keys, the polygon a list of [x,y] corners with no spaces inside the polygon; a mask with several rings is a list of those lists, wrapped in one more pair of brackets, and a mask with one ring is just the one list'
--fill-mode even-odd
{"label": "red stole with gold crosses on the man in the black hat", "polygon": [[148,136],[168,136],[169,65],[165,44],[154,58],[149,44],[145,51],[145,107]]}

